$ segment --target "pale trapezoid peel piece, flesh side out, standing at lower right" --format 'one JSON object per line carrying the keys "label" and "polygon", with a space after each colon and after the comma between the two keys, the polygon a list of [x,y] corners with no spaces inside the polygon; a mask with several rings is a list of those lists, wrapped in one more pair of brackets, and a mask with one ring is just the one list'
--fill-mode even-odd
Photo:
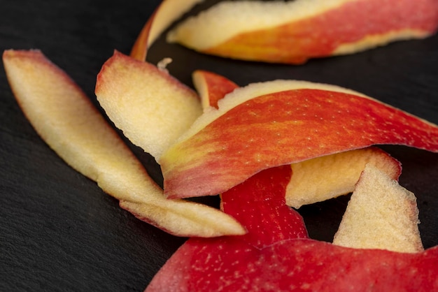
{"label": "pale trapezoid peel piece, flesh side out, standing at lower right", "polygon": [[367,164],[353,191],[333,244],[343,247],[423,251],[416,197],[379,168]]}

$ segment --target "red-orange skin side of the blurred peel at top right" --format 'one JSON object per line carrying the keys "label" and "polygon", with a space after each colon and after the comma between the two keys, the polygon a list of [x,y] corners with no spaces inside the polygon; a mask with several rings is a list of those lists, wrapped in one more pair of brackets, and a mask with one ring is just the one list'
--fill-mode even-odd
{"label": "red-orange skin side of the blurred peel at top right", "polygon": [[366,36],[407,29],[432,34],[438,27],[436,0],[358,0],[308,19],[239,34],[204,50],[208,54],[256,61],[302,64],[332,55],[339,45]]}

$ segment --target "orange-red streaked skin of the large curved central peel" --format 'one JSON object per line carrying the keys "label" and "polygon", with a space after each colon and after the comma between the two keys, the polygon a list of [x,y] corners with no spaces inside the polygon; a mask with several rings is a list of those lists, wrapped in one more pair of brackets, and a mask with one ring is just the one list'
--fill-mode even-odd
{"label": "orange-red streaked skin of the large curved central peel", "polygon": [[369,147],[438,152],[438,126],[372,98],[297,89],[252,98],[169,149],[164,194],[221,194],[262,169]]}

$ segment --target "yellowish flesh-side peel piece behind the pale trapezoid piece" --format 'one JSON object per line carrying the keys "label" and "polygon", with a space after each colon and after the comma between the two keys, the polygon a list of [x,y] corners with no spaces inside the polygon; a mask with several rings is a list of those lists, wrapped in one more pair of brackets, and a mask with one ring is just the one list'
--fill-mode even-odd
{"label": "yellowish flesh-side peel piece behind the pale trapezoid piece", "polygon": [[299,208],[351,193],[360,174],[371,164],[398,180],[402,166],[397,159],[377,147],[366,147],[292,163],[286,203]]}

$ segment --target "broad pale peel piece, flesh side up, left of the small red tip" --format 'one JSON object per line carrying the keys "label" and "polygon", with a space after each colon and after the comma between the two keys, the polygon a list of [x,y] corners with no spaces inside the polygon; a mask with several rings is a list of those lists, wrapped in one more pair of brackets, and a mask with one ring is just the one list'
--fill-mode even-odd
{"label": "broad pale peel piece, flesh side up, left of the small red tip", "polygon": [[202,114],[192,89],[157,66],[117,51],[97,75],[95,93],[115,126],[155,159]]}

